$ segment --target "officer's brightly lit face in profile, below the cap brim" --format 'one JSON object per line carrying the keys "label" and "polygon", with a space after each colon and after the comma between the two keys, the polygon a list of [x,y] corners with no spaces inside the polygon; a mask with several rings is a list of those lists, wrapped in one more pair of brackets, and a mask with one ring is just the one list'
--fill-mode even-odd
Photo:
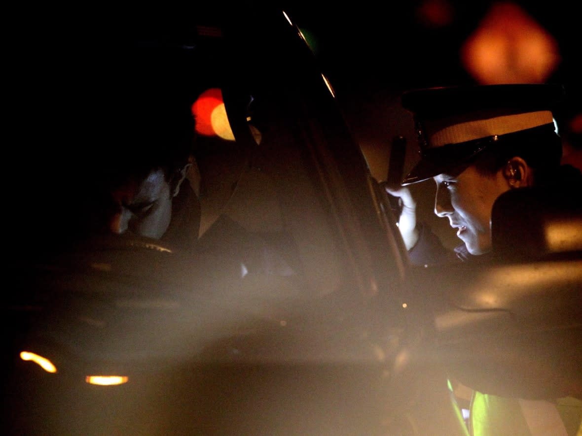
{"label": "officer's brightly lit face in profile, below the cap brim", "polygon": [[491,210],[495,199],[508,190],[502,170],[484,175],[471,165],[459,174],[439,174],[433,179],[437,183],[435,213],[448,217],[471,254],[491,251]]}

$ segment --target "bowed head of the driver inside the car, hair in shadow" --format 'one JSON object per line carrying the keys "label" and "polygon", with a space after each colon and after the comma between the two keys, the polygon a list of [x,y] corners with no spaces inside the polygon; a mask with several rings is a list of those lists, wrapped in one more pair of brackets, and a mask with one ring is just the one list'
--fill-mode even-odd
{"label": "bowed head of the driver inside the car, hair in shadow", "polygon": [[[105,146],[105,221],[116,234],[159,239],[193,159],[194,120],[187,102],[137,98],[108,117],[116,135]],[[113,116],[115,115],[115,116]]]}

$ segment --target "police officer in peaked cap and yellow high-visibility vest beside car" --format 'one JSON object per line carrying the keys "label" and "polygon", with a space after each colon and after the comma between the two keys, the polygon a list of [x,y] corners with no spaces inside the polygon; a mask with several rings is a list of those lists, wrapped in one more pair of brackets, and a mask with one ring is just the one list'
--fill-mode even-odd
{"label": "police officer in peaked cap and yellow high-visibility vest beside car", "polygon": [[[535,188],[580,211],[582,176],[560,165],[562,145],[552,114],[564,97],[562,86],[549,84],[429,88],[402,95],[403,107],[414,116],[420,160],[402,187],[386,190],[402,200],[399,229],[411,262],[491,259],[496,255],[492,210],[508,191]],[[431,178],[437,184],[434,212],[449,220],[462,241],[454,256],[416,220],[407,185]],[[471,399],[475,436],[580,435],[581,418],[582,401],[572,397],[538,401],[473,392]]]}

